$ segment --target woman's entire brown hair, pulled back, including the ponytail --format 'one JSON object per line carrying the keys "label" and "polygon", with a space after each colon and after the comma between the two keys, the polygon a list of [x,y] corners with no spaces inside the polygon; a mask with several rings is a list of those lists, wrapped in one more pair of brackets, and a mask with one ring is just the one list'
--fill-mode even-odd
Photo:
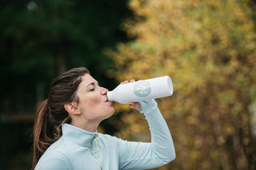
{"label": "woman's entire brown hair, pulled back, including the ponytail", "polygon": [[38,106],[34,123],[34,158],[33,169],[39,158],[60,136],[63,123],[71,122],[69,113],[64,109],[66,103],[79,101],[78,85],[82,76],[89,73],[85,67],[70,69],[54,79],[50,86],[48,99]]}

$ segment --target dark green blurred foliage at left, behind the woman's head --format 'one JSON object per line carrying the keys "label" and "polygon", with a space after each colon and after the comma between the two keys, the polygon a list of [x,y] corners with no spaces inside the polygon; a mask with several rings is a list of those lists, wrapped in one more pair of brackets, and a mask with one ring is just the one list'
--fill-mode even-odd
{"label": "dark green blurred foliage at left, behind the woman's head", "polygon": [[[31,164],[26,155],[31,155],[32,138],[24,141],[22,129],[32,129],[31,115],[59,73],[86,66],[102,86],[114,88],[114,78],[106,77],[113,61],[102,50],[126,41],[120,26],[128,14],[126,0],[1,1],[1,168],[25,169],[24,164]],[[102,127],[115,129],[108,121]]]}

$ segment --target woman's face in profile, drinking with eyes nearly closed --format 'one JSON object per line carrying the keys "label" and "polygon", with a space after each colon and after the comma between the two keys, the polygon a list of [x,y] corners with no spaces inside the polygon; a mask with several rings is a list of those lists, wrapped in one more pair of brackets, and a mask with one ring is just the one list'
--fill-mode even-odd
{"label": "woman's face in profile, drinking with eyes nearly closed", "polygon": [[86,73],[78,86],[78,108],[86,121],[102,121],[114,114],[113,103],[107,100],[107,89]]}

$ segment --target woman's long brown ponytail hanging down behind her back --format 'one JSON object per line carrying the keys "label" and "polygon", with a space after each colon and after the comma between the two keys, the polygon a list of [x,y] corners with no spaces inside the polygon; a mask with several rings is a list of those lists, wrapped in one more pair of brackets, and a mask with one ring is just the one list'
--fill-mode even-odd
{"label": "woman's long brown ponytail hanging down behind her back", "polygon": [[38,163],[39,158],[54,143],[54,128],[49,121],[50,109],[48,100],[42,101],[38,106],[37,117],[34,122],[34,158],[33,168]]}

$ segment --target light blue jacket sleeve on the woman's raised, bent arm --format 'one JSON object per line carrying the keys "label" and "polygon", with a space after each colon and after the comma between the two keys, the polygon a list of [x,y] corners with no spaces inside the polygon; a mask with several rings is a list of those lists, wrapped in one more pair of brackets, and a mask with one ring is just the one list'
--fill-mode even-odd
{"label": "light blue jacket sleeve on the woman's raised, bent arm", "polygon": [[157,168],[175,159],[174,143],[154,100],[140,101],[150,126],[151,142],[118,141],[120,169]]}

